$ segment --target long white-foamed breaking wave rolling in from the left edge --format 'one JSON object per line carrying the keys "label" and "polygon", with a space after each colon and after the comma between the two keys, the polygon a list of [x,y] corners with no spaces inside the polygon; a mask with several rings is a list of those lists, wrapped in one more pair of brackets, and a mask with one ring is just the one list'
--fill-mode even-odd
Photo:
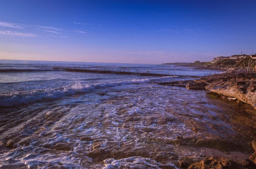
{"label": "long white-foamed breaking wave rolling in from the left edge", "polygon": [[30,93],[25,94],[14,94],[10,93],[9,95],[0,95],[0,107],[14,106],[22,103],[35,103],[42,100],[52,100],[58,99],[60,97],[75,95],[77,93],[87,93],[96,89],[104,89],[108,87],[129,85],[129,84],[139,84],[153,82],[162,78],[172,78],[172,77],[157,77],[157,78],[145,78],[145,79],[134,79],[127,81],[111,82],[111,83],[95,83],[95,84],[82,84],[81,82],[76,82],[73,85],[67,85],[63,87],[58,87],[55,89],[46,89],[41,90],[32,90]]}

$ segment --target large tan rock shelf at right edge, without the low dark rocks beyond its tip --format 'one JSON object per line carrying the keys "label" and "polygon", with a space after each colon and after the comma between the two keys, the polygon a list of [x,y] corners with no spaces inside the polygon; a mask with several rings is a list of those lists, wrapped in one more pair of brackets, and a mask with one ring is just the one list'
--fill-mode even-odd
{"label": "large tan rock shelf at right edge, without the low dark rocks beyond its tip", "polygon": [[201,81],[208,84],[205,87],[207,90],[235,97],[256,109],[256,73],[214,74],[202,77]]}

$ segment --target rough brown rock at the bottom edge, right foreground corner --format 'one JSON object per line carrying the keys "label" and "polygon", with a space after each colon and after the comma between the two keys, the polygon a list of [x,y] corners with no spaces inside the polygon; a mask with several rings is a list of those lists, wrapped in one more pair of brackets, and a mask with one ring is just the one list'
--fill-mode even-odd
{"label": "rough brown rock at the bottom edge, right foreground corner", "polygon": [[204,160],[193,163],[189,169],[245,169],[240,164],[222,157],[207,157]]}

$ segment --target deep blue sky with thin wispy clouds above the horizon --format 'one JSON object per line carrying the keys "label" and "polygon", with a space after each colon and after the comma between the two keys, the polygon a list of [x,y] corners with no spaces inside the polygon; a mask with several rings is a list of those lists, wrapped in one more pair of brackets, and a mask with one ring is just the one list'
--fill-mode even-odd
{"label": "deep blue sky with thin wispy clouds above the horizon", "polygon": [[0,59],[205,61],[256,52],[254,0],[2,0]]}

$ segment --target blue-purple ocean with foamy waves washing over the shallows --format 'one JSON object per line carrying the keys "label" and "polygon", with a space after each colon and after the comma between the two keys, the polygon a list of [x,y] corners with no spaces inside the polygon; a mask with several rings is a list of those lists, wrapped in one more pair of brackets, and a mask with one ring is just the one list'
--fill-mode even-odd
{"label": "blue-purple ocean with foamy waves washing over the shallows", "polygon": [[[172,76],[52,69],[61,67]],[[158,84],[214,73],[173,65],[0,60],[0,166],[178,169],[179,160],[219,155],[211,140],[248,139],[228,120],[243,110],[204,90]]]}

